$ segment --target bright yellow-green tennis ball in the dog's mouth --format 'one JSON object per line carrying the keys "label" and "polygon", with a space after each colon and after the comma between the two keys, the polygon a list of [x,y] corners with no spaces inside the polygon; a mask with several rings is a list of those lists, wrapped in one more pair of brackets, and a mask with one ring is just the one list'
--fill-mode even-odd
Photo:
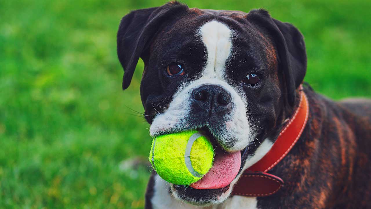
{"label": "bright yellow-green tennis ball in the dog's mouth", "polygon": [[213,145],[205,136],[185,131],[154,138],[149,160],[165,181],[190,185],[210,170],[213,158]]}

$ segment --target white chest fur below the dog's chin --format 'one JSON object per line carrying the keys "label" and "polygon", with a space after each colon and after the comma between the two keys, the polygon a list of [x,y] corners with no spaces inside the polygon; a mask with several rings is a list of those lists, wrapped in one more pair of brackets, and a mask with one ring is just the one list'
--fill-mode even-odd
{"label": "white chest fur below the dog's chin", "polygon": [[154,193],[151,199],[153,209],[257,209],[256,197],[233,196],[219,205],[194,206],[184,201],[176,200],[169,192],[170,184],[160,176],[154,177]]}

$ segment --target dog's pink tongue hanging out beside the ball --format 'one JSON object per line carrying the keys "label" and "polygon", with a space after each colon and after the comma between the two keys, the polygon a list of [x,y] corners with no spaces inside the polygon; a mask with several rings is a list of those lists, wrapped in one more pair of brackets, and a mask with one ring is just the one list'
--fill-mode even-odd
{"label": "dog's pink tongue hanging out beside the ball", "polygon": [[205,176],[191,184],[194,189],[219,189],[228,186],[241,166],[241,152],[216,151],[213,167]]}

